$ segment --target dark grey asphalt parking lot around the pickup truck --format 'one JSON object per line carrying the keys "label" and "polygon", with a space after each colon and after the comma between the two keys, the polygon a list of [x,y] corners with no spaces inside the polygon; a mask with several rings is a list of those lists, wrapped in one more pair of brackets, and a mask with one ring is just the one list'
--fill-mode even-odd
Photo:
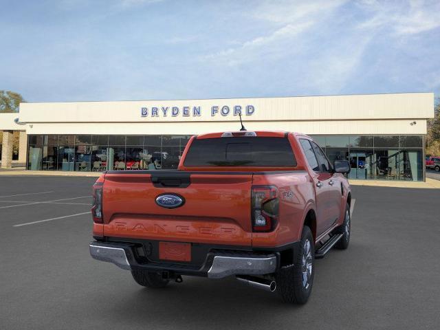
{"label": "dark grey asphalt parking lot around the pickup truck", "polygon": [[228,278],[144,289],[89,256],[93,177],[0,177],[0,329],[439,329],[440,190],[353,186],[302,307]]}

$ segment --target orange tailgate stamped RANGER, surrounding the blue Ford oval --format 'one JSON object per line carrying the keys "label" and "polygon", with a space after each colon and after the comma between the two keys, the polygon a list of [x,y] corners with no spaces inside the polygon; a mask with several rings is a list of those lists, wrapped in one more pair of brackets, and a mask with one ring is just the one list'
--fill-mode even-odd
{"label": "orange tailgate stamped RANGER, surrounding the blue Ford oval", "polygon": [[[107,173],[103,186],[104,236],[251,245],[252,173],[139,171]],[[184,198],[178,208],[158,195]]]}

